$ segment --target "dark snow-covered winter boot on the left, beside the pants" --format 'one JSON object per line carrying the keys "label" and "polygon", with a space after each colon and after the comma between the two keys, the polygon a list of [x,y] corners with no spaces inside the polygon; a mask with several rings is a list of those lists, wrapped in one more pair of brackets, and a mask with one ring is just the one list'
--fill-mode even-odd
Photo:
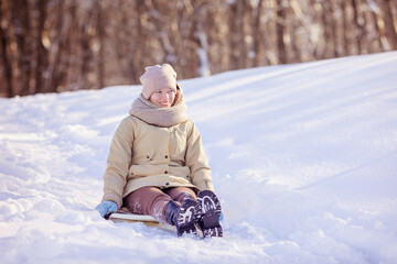
{"label": "dark snow-covered winter boot on the left, beside the pants", "polygon": [[165,219],[169,223],[176,227],[178,237],[184,233],[195,233],[195,206],[196,202],[191,199],[183,201],[181,206],[178,206],[173,200],[167,205]]}

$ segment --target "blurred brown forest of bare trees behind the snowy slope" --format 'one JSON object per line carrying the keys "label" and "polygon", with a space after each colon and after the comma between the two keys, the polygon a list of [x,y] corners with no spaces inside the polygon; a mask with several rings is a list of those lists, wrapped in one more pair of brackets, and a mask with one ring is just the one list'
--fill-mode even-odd
{"label": "blurred brown forest of bare trees behind the snowy slope", "polygon": [[397,0],[0,0],[0,97],[397,50]]}

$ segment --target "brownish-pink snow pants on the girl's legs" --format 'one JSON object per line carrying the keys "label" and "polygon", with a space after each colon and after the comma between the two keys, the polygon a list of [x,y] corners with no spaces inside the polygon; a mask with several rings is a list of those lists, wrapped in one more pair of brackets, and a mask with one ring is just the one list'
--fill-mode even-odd
{"label": "brownish-pink snow pants on the girl's legs", "polygon": [[172,187],[161,190],[158,187],[147,186],[129,194],[124,205],[133,213],[150,215],[159,222],[165,220],[165,207],[170,200],[182,204],[185,199],[196,200],[196,194],[187,187]]}

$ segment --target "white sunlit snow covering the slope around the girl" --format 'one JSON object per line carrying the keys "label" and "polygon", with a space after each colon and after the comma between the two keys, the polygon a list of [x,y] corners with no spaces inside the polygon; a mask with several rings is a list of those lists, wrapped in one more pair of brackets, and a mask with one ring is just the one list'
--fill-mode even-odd
{"label": "white sunlit snow covering the slope around the girl", "polygon": [[180,85],[223,239],[94,210],[140,86],[36,95],[0,99],[0,263],[397,263],[397,52]]}

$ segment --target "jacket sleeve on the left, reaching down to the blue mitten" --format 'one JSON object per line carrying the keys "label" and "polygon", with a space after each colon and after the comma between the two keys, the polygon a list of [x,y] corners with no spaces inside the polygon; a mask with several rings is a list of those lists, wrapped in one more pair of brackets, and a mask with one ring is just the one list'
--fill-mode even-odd
{"label": "jacket sleeve on the left, reaching down to the blue mitten", "polygon": [[115,201],[118,208],[122,205],[122,193],[131,165],[133,144],[133,125],[128,119],[121,121],[112,138],[104,175],[103,200]]}

